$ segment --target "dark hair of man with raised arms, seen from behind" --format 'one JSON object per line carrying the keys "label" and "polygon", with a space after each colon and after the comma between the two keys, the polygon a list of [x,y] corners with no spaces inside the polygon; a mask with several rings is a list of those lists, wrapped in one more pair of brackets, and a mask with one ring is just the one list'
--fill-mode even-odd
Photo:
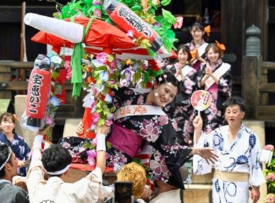
{"label": "dark hair of man with raised arms, seen from behind", "polygon": [[[50,145],[42,155],[42,164],[46,171],[55,172],[65,169],[72,163],[72,156],[68,150],[61,145]],[[61,176],[61,175],[58,175]]]}

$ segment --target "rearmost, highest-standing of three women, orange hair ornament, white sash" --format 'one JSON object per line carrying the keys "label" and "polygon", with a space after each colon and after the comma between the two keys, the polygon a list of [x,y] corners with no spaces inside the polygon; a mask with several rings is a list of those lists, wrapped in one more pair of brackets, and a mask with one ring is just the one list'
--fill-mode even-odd
{"label": "rearmost, highest-standing of three women, orange hair ornament, white sash", "polygon": [[203,27],[201,23],[195,22],[190,27],[190,34],[192,40],[190,43],[186,43],[186,46],[189,47],[190,53],[192,55],[192,61],[190,66],[198,70],[201,63],[206,62],[206,47],[208,43],[203,39],[204,34],[209,36],[210,34],[210,25]]}

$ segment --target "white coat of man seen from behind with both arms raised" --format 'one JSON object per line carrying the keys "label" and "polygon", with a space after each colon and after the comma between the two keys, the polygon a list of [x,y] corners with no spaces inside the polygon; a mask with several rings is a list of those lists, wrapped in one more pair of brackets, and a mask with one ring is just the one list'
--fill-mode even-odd
{"label": "white coat of man seen from behind with both arms raised", "polygon": [[34,149],[26,180],[30,203],[96,203],[102,182],[102,172],[99,167],[96,167],[88,176],[74,183],[64,182],[58,177],[52,177],[46,181],[41,152]]}

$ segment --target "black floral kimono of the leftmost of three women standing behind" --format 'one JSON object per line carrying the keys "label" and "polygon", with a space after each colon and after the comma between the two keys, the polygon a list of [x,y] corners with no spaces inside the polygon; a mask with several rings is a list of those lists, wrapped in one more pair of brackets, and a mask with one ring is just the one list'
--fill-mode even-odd
{"label": "black floral kimono of the leftmost of three women standing behind", "polygon": [[[177,63],[167,66],[166,71],[176,73]],[[171,119],[173,126],[177,132],[177,140],[181,145],[188,145],[188,141],[192,141],[194,127],[192,121],[195,117],[194,108],[191,105],[190,97],[197,89],[197,71],[188,65],[181,69],[190,69],[184,76],[185,80],[179,81],[179,93],[175,99],[167,104],[164,112]]]}

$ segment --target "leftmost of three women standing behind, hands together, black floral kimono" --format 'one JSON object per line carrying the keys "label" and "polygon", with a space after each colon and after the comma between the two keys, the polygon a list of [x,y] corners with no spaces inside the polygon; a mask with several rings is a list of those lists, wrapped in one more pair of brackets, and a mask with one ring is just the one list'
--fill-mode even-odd
{"label": "leftmost of three women standing behind, hands together, black floral kimono", "polygon": [[166,71],[175,74],[179,81],[179,93],[173,101],[164,107],[164,111],[170,117],[175,131],[177,141],[181,145],[192,145],[192,134],[194,128],[192,120],[195,117],[190,97],[197,88],[197,71],[190,67],[191,54],[186,45],[177,48],[177,62],[166,66]]}

